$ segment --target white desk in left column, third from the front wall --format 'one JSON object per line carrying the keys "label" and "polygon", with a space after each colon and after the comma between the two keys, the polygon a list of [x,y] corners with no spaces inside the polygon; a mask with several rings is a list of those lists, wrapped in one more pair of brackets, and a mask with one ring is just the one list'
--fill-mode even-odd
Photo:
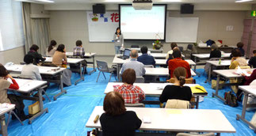
{"label": "white desk in left column, third from the front wall", "polygon": [[[15,73],[21,73],[22,67],[24,65],[11,65],[11,66],[5,66],[6,70],[10,72],[15,72]],[[63,70],[65,68],[59,68],[59,67],[51,67],[51,66],[38,66],[40,74],[46,74],[46,75],[59,75],[59,84],[60,84],[60,93],[56,94],[54,96],[54,100],[57,99],[58,96],[62,95],[63,93],[67,93],[66,90],[63,89]],[[55,82],[52,80],[49,80],[51,82]]]}

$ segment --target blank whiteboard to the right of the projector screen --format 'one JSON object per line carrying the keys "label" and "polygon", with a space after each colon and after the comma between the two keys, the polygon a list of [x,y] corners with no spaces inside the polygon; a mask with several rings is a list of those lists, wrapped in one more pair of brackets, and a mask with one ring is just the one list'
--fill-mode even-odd
{"label": "blank whiteboard to the right of the projector screen", "polygon": [[168,17],[166,42],[197,43],[198,17]]}

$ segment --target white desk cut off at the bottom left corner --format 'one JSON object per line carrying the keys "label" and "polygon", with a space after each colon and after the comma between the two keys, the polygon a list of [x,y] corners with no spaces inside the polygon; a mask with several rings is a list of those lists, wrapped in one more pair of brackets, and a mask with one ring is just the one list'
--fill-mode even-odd
{"label": "white desk cut off at the bottom left corner", "polygon": [[[5,106],[3,106],[5,105]],[[6,124],[6,113],[13,111],[15,108],[14,104],[0,104],[0,123],[1,123],[1,134],[2,136],[7,136],[7,124]]]}

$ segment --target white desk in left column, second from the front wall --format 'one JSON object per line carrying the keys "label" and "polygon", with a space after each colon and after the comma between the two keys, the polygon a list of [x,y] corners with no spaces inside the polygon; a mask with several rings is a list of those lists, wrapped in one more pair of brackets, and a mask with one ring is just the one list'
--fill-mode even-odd
{"label": "white desk in left column, second from the front wall", "polygon": [[[83,60],[84,59],[67,58],[68,64],[78,64],[79,65],[80,78],[77,81],[75,81],[75,85],[77,85],[79,81],[85,80],[85,76],[84,76],[84,74],[82,74],[82,61]],[[45,57],[45,62],[52,62],[52,57]]]}

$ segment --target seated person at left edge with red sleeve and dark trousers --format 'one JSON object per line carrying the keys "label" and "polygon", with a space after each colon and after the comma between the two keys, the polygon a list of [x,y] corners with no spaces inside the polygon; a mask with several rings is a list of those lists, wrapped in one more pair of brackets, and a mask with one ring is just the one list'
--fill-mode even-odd
{"label": "seated person at left edge with red sleeve and dark trousers", "polygon": [[[10,78],[13,83],[7,81]],[[25,112],[23,109],[25,108],[23,101],[21,98],[17,97],[13,94],[7,94],[7,89],[19,89],[19,85],[13,79],[13,77],[8,74],[5,66],[0,65],[0,104],[9,103],[15,104],[15,113],[21,119],[21,121],[26,119]],[[12,116],[15,119],[15,116]]]}

